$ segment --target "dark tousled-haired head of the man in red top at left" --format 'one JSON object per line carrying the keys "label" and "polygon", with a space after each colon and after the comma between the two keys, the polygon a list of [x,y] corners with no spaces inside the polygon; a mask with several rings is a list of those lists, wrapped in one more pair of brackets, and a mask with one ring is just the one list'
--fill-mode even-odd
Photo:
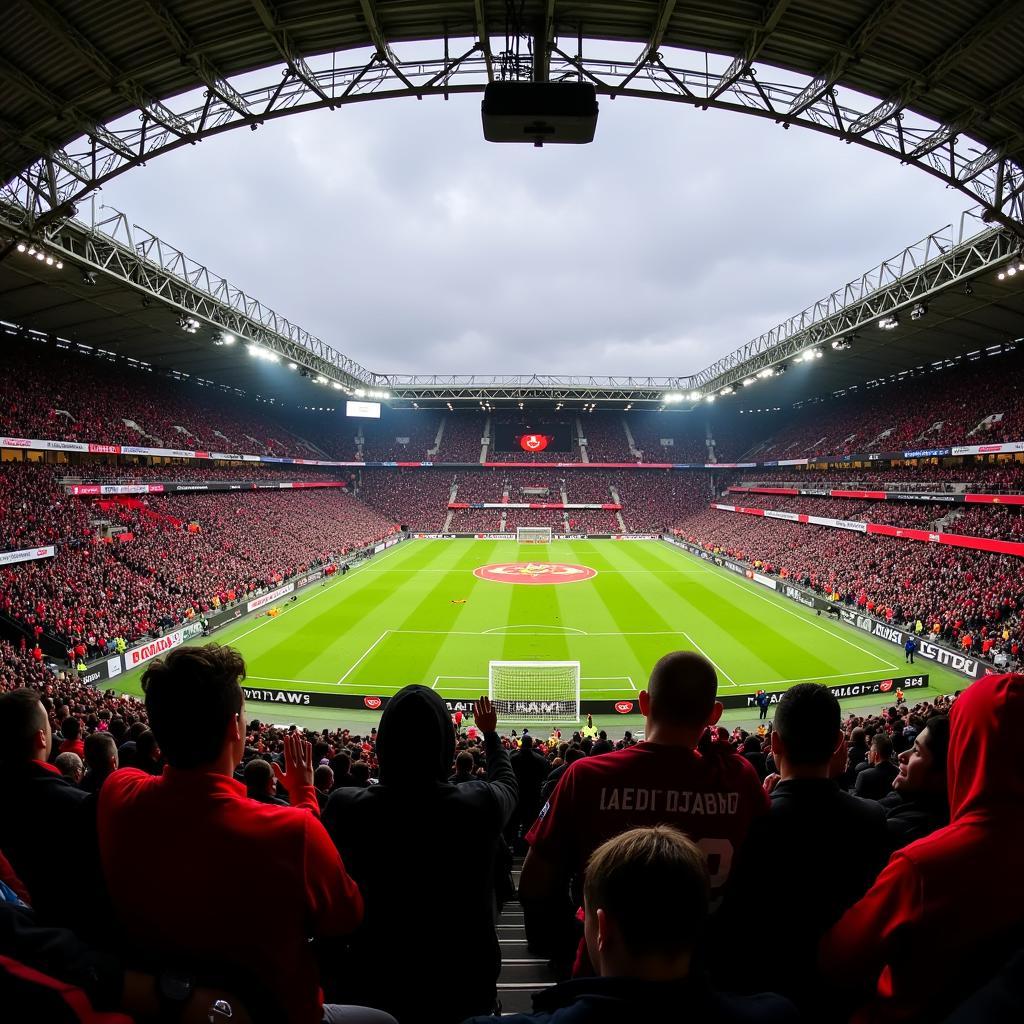
{"label": "dark tousled-haired head of the man in red top at left", "polygon": [[220,755],[231,719],[242,711],[246,666],[230,647],[179,647],[142,674],[145,708],[157,742],[174,768],[201,768]]}

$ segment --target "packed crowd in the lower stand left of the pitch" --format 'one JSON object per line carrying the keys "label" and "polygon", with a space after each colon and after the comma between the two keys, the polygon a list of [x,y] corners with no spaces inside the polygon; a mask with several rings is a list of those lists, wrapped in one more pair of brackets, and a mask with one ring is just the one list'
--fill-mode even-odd
{"label": "packed crowd in the lower stand left of the pitch", "polygon": [[[114,638],[155,635],[395,529],[340,489],[87,502],[54,497],[49,474],[26,480],[50,488],[37,496],[39,522],[51,521],[52,508],[70,511],[52,520],[61,528],[54,557],[0,566],[0,611],[36,642],[81,643],[89,656]],[[33,492],[27,484],[20,494]],[[8,532],[5,524],[27,513],[24,502],[13,505],[13,519],[0,516]],[[96,520],[123,532],[101,541]]]}

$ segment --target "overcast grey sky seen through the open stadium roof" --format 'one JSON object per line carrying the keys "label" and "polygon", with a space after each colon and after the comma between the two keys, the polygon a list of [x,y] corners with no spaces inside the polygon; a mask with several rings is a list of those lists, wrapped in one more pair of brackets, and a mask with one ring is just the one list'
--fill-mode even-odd
{"label": "overcast grey sky seen through the open stadium roof", "polygon": [[479,96],[228,132],[98,203],[381,372],[686,374],[967,205],[759,118],[601,100],[589,146],[493,145]]}

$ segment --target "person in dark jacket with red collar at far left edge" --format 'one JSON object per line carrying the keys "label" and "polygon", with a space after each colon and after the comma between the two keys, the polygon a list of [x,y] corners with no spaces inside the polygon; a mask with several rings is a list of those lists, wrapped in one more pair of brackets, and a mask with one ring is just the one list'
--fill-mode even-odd
{"label": "person in dark jacket with red collar at far left edge", "polygon": [[46,763],[51,741],[36,690],[0,694],[0,850],[32,894],[40,921],[72,927],[82,907],[69,899],[69,865],[79,886],[94,888],[95,856],[82,806],[86,794]]}

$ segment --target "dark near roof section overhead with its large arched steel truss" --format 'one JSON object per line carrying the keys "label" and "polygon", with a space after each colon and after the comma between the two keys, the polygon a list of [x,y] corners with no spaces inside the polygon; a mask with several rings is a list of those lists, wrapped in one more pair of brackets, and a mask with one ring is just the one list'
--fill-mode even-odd
{"label": "dark near roof section overhead with its large arched steel truss", "polygon": [[[531,59],[526,48],[518,59],[520,37]],[[595,40],[630,44],[632,62],[598,59]],[[394,47],[411,41],[434,43],[436,61],[403,61]],[[239,77],[267,68],[282,69],[273,88],[247,92]],[[0,180],[13,180],[9,199],[46,211],[234,125],[523,74],[829,131],[919,164],[1024,227],[1016,0],[12,0]],[[171,102],[197,90],[198,102]]]}

